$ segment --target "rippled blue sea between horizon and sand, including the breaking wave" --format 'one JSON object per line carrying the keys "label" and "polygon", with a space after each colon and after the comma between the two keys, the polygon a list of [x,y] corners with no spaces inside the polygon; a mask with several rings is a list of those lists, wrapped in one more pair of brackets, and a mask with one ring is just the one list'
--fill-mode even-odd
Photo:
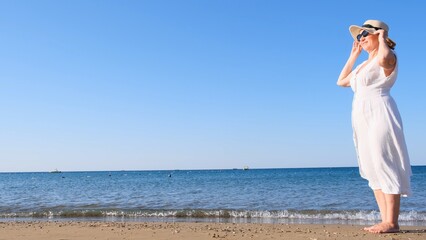
{"label": "rippled blue sea between horizon and sand, including the breaking wave", "polygon": [[[414,166],[401,225],[426,225],[426,166]],[[369,224],[358,168],[0,173],[0,221]]]}

